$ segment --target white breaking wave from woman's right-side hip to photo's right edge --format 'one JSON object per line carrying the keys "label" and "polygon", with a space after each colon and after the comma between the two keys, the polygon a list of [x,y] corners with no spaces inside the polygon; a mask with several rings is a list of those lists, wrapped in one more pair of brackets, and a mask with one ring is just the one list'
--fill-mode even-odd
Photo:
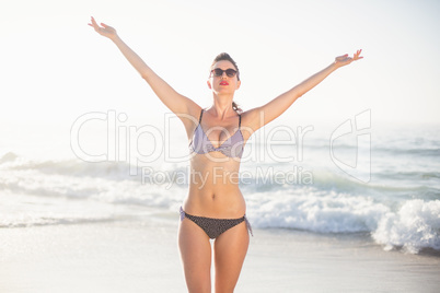
{"label": "white breaking wave from woman's right-side hip to photo's right edge", "polygon": [[315,233],[361,233],[390,250],[417,254],[440,249],[440,200],[406,200],[395,207],[370,197],[299,188],[254,194],[247,198],[251,222],[260,228],[292,228]]}

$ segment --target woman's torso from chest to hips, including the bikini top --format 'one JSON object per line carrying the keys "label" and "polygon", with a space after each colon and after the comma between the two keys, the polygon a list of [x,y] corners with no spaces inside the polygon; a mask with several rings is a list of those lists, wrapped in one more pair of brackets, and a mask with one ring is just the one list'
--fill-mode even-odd
{"label": "woman's torso from chest to hips, including the bikini top", "polygon": [[240,126],[239,115],[210,126],[209,114],[201,110],[199,124],[190,136],[189,190],[183,207],[187,213],[218,219],[234,219],[245,213],[239,188],[244,146]]}

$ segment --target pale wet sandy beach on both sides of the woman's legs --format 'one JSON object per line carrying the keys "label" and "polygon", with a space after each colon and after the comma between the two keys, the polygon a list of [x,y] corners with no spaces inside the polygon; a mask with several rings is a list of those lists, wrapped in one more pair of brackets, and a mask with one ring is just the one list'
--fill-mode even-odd
{"label": "pale wet sandy beach on both sides of the woman's legs", "polygon": [[[0,228],[0,292],[186,292],[176,221]],[[235,292],[438,292],[440,257],[255,230]]]}

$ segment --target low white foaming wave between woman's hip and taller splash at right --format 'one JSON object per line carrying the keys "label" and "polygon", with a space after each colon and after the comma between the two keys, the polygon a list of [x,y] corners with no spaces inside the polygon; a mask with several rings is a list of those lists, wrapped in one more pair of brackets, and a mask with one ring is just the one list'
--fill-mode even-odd
{"label": "low white foaming wave between woman's hip and taller splash at right", "polygon": [[285,227],[317,233],[371,232],[390,208],[371,198],[299,188],[253,195],[250,218],[257,227]]}

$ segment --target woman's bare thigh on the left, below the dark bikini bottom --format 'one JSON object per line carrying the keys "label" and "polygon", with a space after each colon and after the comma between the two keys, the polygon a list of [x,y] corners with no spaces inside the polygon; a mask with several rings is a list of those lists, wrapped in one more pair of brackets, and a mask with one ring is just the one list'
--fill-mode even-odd
{"label": "woman's bare thigh on the left, below the dark bikini bottom", "polygon": [[188,291],[211,292],[211,244],[194,222],[183,219],[178,227],[178,248]]}

